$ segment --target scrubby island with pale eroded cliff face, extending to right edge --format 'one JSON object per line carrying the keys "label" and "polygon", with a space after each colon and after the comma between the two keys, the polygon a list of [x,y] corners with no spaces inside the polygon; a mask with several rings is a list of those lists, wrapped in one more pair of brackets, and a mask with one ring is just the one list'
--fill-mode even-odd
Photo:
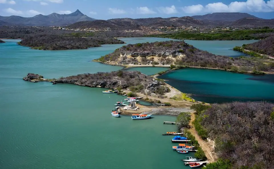
{"label": "scrubby island with pale eroded cliff face, extending to right edge", "polygon": [[94,61],[121,66],[166,65],[172,68],[176,66],[178,68],[215,68],[240,73],[270,72],[274,68],[272,64],[269,64],[272,62],[269,60],[214,55],[184,41],[129,44]]}

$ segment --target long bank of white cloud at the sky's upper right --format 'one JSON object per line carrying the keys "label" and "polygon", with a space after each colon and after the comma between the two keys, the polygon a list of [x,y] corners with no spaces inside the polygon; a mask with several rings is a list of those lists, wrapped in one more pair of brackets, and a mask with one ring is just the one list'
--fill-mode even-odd
{"label": "long bank of white cloud at the sky's upper right", "polygon": [[247,0],[246,2],[231,2],[226,5],[222,2],[203,5],[191,5],[182,8],[186,13],[206,12],[274,12],[274,0]]}

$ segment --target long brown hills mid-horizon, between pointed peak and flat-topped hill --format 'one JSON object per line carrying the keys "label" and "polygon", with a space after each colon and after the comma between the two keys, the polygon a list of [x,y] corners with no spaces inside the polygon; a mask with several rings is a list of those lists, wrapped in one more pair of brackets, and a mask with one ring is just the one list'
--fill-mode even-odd
{"label": "long brown hills mid-horizon, between pointed peak and flat-topped hill", "polygon": [[95,20],[95,21],[85,21],[77,22],[71,24],[71,28],[88,28],[88,27],[110,27],[110,28],[138,28],[139,26],[209,26],[205,22],[196,20],[190,16],[184,17],[171,17],[171,18],[116,18],[109,20]]}

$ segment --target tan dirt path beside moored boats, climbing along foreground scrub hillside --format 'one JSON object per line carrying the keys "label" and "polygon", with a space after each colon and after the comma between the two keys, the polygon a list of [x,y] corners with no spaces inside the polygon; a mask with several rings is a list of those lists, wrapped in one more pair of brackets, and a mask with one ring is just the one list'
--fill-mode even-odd
{"label": "tan dirt path beside moored boats, climbing along foreground scrub hillside", "polygon": [[192,135],[195,136],[196,140],[198,141],[198,143],[200,144],[200,146],[202,147],[202,149],[206,153],[207,160],[209,162],[214,162],[217,158],[215,157],[215,155],[213,155],[212,150],[209,147],[208,143],[205,142],[204,140],[202,140],[199,137],[199,135],[197,134],[197,132],[196,132],[196,130],[194,128],[194,126],[192,126],[192,122],[194,121],[194,119],[195,119],[195,114],[192,112],[191,113],[191,120],[189,122],[189,126],[190,126],[189,131],[192,133]]}

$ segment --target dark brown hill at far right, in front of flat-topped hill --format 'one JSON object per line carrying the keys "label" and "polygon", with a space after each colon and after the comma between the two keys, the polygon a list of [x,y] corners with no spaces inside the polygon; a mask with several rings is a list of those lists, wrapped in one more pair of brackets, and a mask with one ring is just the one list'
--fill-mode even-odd
{"label": "dark brown hill at far right, in front of flat-topped hill", "polygon": [[242,18],[231,22],[228,26],[248,28],[268,26],[272,28],[274,27],[274,19]]}

